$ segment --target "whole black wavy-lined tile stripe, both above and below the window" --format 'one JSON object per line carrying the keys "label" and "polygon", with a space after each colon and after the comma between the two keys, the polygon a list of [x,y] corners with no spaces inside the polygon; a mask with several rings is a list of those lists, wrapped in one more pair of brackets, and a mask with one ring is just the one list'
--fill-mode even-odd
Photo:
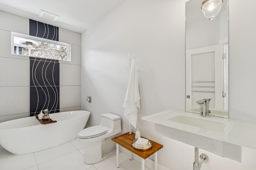
{"label": "whole black wavy-lined tile stripe, both above and below the window", "polygon": [[[59,41],[59,28],[29,20],[30,35]],[[30,116],[48,109],[60,112],[60,63],[58,60],[30,57]]]}

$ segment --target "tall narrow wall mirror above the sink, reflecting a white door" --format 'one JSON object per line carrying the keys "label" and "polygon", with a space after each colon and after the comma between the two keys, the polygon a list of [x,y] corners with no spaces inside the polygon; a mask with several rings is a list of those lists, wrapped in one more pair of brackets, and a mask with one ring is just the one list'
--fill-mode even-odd
{"label": "tall narrow wall mirror above the sink, reflecting a white door", "polygon": [[186,111],[200,113],[196,101],[211,99],[209,115],[228,117],[228,0],[212,20],[201,9],[210,1],[186,2]]}

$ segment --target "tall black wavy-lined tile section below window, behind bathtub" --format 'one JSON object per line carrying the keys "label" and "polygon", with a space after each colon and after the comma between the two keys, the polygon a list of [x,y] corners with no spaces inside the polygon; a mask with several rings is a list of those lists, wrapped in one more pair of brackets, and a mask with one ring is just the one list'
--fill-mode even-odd
{"label": "tall black wavy-lined tile section below window, behind bathtub", "polygon": [[60,63],[30,57],[30,116],[60,110]]}

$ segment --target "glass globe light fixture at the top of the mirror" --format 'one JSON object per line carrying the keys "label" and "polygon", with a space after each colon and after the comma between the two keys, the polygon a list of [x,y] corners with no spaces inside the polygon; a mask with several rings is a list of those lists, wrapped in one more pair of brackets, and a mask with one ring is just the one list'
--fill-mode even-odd
{"label": "glass globe light fixture at the top of the mirror", "polygon": [[205,0],[202,2],[201,9],[202,12],[208,20],[213,20],[218,16],[223,0]]}

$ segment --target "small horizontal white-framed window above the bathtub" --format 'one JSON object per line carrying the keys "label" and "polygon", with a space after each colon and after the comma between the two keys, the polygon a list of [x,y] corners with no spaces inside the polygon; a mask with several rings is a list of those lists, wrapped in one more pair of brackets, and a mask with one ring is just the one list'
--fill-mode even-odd
{"label": "small horizontal white-framed window above the bathtub", "polygon": [[71,61],[70,44],[12,32],[12,54]]}

